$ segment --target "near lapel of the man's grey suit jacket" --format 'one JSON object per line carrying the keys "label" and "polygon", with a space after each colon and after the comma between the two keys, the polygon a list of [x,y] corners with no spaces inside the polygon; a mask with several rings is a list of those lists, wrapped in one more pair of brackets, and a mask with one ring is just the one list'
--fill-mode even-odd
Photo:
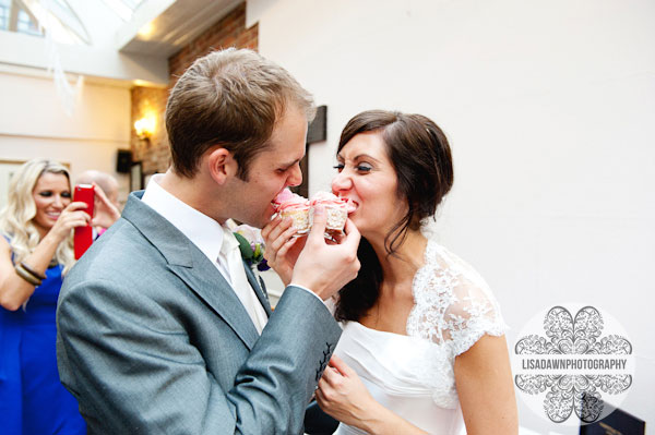
{"label": "near lapel of the man's grey suit jacket", "polygon": [[143,192],[130,194],[122,217],[134,225],[164,255],[168,269],[206,302],[249,350],[252,349],[259,334],[233,288],[216,266],[184,234],[141,202],[142,195]]}

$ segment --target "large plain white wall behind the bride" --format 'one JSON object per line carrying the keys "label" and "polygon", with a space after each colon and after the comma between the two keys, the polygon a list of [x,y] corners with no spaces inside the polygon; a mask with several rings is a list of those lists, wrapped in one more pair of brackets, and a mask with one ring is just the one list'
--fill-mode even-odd
{"label": "large plain white wall behind the bride", "polygon": [[495,289],[510,346],[547,306],[608,311],[638,357],[623,408],[655,424],[655,2],[249,0],[257,21],[261,53],[329,107],[310,192],[352,116],[432,118],[456,171],[441,240]]}

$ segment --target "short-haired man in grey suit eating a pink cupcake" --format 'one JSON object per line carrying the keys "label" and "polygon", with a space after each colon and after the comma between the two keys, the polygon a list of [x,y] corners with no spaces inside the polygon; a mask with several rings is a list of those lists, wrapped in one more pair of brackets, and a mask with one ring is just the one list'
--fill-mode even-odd
{"label": "short-haired man in grey suit eating a pink cupcake", "polygon": [[322,300],[357,275],[324,213],[275,312],[228,218],[261,227],[301,182],[311,96],[253,51],[196,60],[166,107],[172,165],[132,193],[64,280],[61,382],[90,433],[297,434],[341,330]]}

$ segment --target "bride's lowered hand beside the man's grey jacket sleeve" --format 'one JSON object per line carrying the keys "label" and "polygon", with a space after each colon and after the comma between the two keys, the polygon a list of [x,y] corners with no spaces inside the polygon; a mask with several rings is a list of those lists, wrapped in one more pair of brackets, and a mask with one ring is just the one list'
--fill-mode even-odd
{"label": "bride's lowered hand beside the man's grey jacket sleeve", "polygon": [[333,355],[323,372],[315,392],[323,411],[340,422],[362,428],[361,424],[374,415],[380,404],[342,359]]}

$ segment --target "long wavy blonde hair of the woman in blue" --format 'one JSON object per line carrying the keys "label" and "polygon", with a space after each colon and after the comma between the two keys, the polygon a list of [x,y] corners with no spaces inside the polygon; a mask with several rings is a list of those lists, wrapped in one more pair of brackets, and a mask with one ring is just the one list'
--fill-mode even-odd
{"label": "long wavy blonde hair of the woman in blue", "polygon": [[[19,168],[9,183],[7,206],[0,212],[0,231],[10,239],[14,264],[21,263],[32,253],[40,241],[39,233],[33,222],[36,216],[34,188],[38,179],[46,172],[61,173],[69,180],[68,169],[52,160],[34,159]],[[72,233],[59,244],[55,253],[57,263],[67,273],[75,263],[73,257]]]}

